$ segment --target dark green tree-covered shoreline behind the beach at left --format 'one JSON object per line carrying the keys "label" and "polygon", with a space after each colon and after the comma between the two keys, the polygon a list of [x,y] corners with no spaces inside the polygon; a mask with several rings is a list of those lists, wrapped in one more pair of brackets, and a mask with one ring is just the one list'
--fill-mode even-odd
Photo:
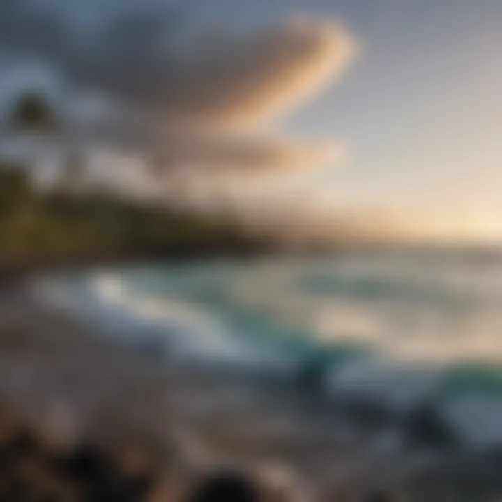
{"label": "dark green tree-covered shoreline behind the beach at left", "polygon": [[245,252],[257,245],[231,218],[98,193],[33,190],[0,166],[0,261]]}

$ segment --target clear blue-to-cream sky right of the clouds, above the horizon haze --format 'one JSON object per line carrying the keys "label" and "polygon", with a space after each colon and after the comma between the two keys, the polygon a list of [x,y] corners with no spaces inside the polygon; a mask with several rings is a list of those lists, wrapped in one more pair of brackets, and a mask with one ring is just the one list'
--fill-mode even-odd
{"label": "clear blue-to-cream sky right of the clouds, above the horizon haze", "polygon": [[[280,15],[295,10],[292,3],[254,5]],[[342,20],[360,41],[358,59],[342,82],[290,123],[291,130],[312,136],[333,131],[349,144],[347,160],[330,177],[337,198],[349,204],[435,205],[446,199],[499,206],[500,1],[295,5]]]}

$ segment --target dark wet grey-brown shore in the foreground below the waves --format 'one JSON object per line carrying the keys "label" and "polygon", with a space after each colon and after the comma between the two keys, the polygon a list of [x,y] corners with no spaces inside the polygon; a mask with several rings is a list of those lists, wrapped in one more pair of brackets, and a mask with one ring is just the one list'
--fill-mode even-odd
{"label": "dark wet grey-brown shore in the foreground below the waves", "polygon": [[181,364],[155,344],[117,342],[20,282],[0,289],[0,447],[22,467],[14,475],[7,462],[0,500],[14,500],[1,499],[12,476],[52,487],[51,500],[98,500],[89,476],[68,468],[75,457],[101,465],[100,489],[115,492],[99,500],[109,501],[183,500],[225,469],[248,473],[263,500],[502,496],[502,456],[404,448],[395,424],[348,413],[294,378]]}

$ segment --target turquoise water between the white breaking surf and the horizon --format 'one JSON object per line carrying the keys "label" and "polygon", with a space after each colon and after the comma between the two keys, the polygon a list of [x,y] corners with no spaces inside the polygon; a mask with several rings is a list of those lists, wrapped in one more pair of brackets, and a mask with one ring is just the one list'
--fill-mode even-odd
{"label": "turquoise water between the white breaking surf and the horizon", "polygon": [[502,259],[221,261],[137,266],[108,278],[132,302],[204,314],[229,337],[271,351],[502,362]]}

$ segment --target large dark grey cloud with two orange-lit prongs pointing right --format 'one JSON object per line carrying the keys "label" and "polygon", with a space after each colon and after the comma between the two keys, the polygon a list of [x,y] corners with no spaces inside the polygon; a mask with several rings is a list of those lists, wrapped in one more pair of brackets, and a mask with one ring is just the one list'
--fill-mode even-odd
{"label": "large dark grey cloud with two orange-lit prongs pointing right", "polygon": [[1,52],[36,57],[69,93],[94,93],[120,110],[86,126],[88,139],[136,146],[166,158],[166,168],[269,173],[331,158],[326,142],[265,131],[342,74],[354,49],[342,26],[296,20],[210,32],[190,23],[176,29],[174,12],[153,4],[100,5],[87,24],[54,0],[0,6]]}

